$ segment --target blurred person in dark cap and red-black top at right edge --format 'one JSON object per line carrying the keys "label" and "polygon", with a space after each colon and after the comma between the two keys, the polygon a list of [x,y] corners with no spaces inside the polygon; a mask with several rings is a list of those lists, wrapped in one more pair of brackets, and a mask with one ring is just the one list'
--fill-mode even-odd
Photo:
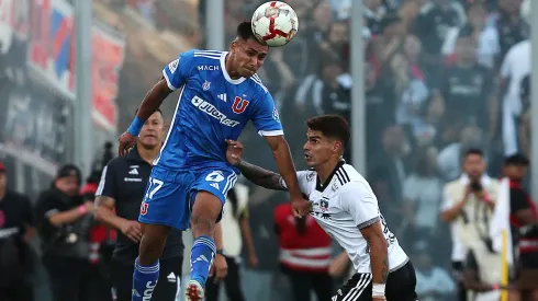
{"label": "blurred person in dark cap and red-black top at right edge", "polygon": [[[509,178],[512,239],[519,253],[515,285],[528,300],[538,301],[538,210],[522,186],[528,164],[525,155],[513,154],[504,162],[504,175]],[[513,292],[511,300],[520,300],[519,293]]]}

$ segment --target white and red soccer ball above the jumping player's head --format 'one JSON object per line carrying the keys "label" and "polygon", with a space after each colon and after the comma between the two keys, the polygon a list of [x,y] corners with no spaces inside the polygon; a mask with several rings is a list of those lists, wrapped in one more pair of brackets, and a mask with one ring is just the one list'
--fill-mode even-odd
{"label": "white and red soccer ball above the jumping player's head", "polygon": [[280,1],[269,1],[259,5],[253,14],[251,24],[256,38],[269,47],[284,46],[299,30],[295,11]]}

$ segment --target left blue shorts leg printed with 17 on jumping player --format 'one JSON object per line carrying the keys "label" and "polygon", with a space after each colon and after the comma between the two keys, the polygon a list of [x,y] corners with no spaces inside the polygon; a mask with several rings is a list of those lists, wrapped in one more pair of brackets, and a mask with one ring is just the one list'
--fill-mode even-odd
{"label": "left blue shorts leg printed with 17 on jumping player", "polygon": [[195,181],[192,172],[170,172],[155,166],[141,205],[138,221],[146,224],[189,228],[189,192]]}

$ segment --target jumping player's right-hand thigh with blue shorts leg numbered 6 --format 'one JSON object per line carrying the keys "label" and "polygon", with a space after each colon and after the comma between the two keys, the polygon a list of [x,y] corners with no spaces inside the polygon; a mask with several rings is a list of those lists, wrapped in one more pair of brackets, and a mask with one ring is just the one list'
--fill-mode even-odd
{"label": "jumping player's right-hand thigh with blue shorts leg numbered 6", "polygon": [[193,217],[210,217],[220,221],[226,195],[237,182],[232,169],[209,169],[199,173],[191,190]]}

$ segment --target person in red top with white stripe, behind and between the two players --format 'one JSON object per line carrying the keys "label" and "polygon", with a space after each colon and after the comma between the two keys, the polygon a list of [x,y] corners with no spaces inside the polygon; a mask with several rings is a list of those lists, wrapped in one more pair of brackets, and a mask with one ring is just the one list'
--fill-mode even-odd
{"label": "person in red top with white stripe, behind and between the two players", "polygon": [[313,217],[293,217],[289,202],[277,206],[273,213],[280,245],[280,267],[291,281],[293,300],[310,301],[312,291],[317,300],[330,300],[330,238]]}

